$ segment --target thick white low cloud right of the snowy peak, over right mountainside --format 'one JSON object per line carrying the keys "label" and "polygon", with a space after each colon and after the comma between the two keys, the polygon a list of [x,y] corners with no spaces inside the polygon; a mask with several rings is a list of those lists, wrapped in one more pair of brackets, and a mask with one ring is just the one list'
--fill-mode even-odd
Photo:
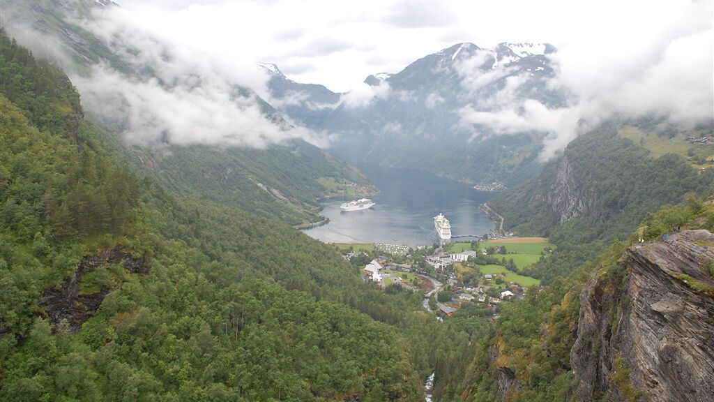
{"label": "thick white low cloud right of the snowy peak, over right mountainside", "polygon": [[[714,122],[714,29],[711,4],[680,5],[675,16],[689,24],[673,23],[646,46],[578,46],[549,55],[555,77],[545,90],[568,97],[555,107],[524,95],[528,73],[514,74],[498,64],[484,69],[488,52],[477,52],[456,64],[462,78],[458,127],[471,140],[491,135],[538,132],[543,134],[541,160],[548,160],[579,134],[613,117],[665,117],[684,129]],[[597,37],[593,37],[595,42]],[[642,39],[642,38],[638,38]],[[623,39],[627,40],[627,39]],[[493,84],[498,90],[493,92]]]}

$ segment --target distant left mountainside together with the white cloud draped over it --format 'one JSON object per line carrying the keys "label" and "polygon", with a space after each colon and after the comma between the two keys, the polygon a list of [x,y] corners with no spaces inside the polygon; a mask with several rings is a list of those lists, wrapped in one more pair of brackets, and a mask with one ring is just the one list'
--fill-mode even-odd
{"label": "distant left mountainside together with the white cloud draped over it", "polygon": [[146,24],[154,15],[89,0],[8,1],[2,14],[21,43],[69,72],[109,143],[129,144],[117,149],[171,190],[308,225],[323,219],[318,198],[372,188],[316,147],[326,137],[251,89],[266,80],[259,67],[178,41]]}

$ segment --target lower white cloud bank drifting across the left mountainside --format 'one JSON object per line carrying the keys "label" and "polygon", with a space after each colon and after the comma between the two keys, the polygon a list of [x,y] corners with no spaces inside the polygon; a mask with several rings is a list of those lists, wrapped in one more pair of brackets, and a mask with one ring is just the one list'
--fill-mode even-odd
{"label": "lower white cloud bank drifting across the left mountainside", "polygon": [[106,66],[94,67],[89,77],[75,77],[74,84],[85,108],[104,123],[122,127],[132,144],[263,148],[298,137],[320,142],[306,129],[269,120],[254,95],[231,94],[211,84],[167,89],[156,79],[128,79]]}

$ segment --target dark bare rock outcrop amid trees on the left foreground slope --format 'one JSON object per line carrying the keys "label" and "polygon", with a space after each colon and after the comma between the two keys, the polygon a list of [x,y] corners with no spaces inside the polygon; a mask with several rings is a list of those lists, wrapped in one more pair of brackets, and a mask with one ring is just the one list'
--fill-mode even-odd
{"label": "dark bare rock outcrop amid trees on the left foreground slope", "polygon": [[119,245],[83,258],[75,273],[67,278],[61,287],[49,289],[42,296],[42,306],[55,325],[59,324],[61,320],[66,320],[69,328],[76,331],[84,321],[94,315],[104,300],[104,296],[112,289],[105,287],[90,294],[82,294],[79,291],[79,283],[84,275],[104,264],[121,264],[129,273],[145,274],[149,272],[146,258],[135,258],[131,253],[122,250]]}

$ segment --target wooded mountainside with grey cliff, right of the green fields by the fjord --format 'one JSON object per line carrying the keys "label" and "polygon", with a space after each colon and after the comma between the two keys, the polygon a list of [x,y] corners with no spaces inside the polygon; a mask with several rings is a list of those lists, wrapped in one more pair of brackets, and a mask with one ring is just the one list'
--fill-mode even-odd
{"label": "wooded mountainside with grey cliff, right of the green fields by the fjord", "polygon": [[[560,171],[559,171],[560,170]],[[568,182],[563,184],[563,175]],[[549,237],[558,245],[548,262],[524,275],[552,280],[592,260],[615,240],[624,240],[648,213],[679,202],[687,192],[714,192],[714,169],[699,172],[678,155],[653,158],[647,149],[619,137],[615,124],[605,124],[575,139],[562,157],[521,187],[488,202],[506,217],[504,227],[519,235]],[[586,204],[578,216],[560,222],[557,197]]]}

